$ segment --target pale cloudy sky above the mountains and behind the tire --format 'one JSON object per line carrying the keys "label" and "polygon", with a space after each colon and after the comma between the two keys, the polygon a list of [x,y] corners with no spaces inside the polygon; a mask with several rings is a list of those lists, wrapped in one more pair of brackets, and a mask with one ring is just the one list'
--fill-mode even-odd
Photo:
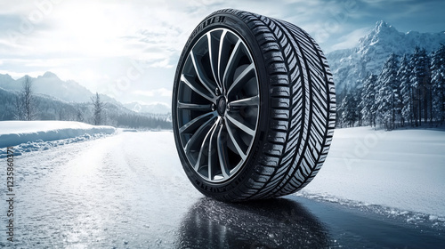
{"label": "pale cloudy sky above the mountains and behind the tire", "polygon": [[324,52],[354,46],[378,20],[402,32],[445,31],[443,0],[0,0],[0,74],[52,71],[122,102],[170,104],[185,41],[222,8],[290,21]]}

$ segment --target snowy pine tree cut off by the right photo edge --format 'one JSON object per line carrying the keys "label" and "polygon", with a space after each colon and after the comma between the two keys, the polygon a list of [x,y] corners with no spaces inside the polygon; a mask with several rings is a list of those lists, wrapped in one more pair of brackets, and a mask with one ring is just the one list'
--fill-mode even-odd
{"label": "snowy pine tree cut off by the right photo edge", "polygon": [[431,60],[432,72],[432,118],[440,121],[441,124],[445,121],[445,45],[433,53]]}

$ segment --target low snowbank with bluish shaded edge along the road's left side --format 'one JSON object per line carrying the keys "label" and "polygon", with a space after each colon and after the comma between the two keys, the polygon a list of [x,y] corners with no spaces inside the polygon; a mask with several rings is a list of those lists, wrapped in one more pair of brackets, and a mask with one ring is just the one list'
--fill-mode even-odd
{"label": "low snowbank with bluish shaded edge along the road's left side", "polygon": [[6,155],[5,148],[10,146],[16,147],[20,155],[115,132],[116,129],[111,126],[74,121],[1,121],[0,158]]}

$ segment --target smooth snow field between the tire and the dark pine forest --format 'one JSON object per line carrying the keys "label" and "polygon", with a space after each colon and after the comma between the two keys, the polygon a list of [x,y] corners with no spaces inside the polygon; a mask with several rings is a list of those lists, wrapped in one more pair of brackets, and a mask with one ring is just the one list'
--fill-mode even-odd
{"label": "smooth snow field between the tire and the dark pine forest", "polygon": [[444,180],[444,131],[336,129],[320,173],[297,195],[445,217]]}

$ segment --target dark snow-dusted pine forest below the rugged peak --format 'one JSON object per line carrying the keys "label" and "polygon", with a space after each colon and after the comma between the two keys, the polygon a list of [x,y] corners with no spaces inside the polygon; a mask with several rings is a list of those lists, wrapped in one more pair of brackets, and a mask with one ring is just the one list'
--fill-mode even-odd
{"label": "dark snow-dusted pine forest below the rugged peak", "polygon": [[445,121],[445,45],[428,54],[392,53],[378,75],[369,74],[357,88],[337,95],[337,127],[438,126]]}

